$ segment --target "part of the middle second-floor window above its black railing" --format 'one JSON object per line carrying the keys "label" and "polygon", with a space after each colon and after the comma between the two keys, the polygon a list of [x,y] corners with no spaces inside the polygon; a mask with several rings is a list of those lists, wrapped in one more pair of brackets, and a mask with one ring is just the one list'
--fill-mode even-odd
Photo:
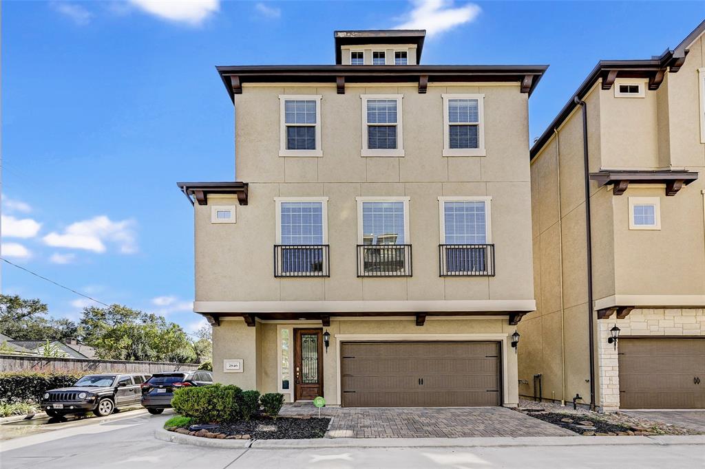
{"label": "part of the middle second-floor window above its black railing", "polygon": [[362,244],[405,244],[404,202],[362,202]]}

